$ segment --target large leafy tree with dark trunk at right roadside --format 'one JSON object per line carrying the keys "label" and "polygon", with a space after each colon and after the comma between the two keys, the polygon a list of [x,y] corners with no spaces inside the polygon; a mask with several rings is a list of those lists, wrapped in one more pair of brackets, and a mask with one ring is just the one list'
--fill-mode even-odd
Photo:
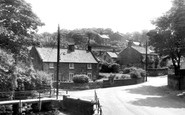
{"label": "large leafy tree with dark trunk at right roadside", "polygon": [[180,58],[185,43],[185,2],[174,0],[172,8],[163,16],[153,21],[155,30],[148,32],[149,44],[161,55],[172,59],[175,74],[179,74]]}

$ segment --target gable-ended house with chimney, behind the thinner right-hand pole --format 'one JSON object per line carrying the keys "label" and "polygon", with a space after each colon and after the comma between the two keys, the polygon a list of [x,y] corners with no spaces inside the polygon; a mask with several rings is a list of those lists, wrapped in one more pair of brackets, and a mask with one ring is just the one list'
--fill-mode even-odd
{"label": "gable-ended house with chimney, behind the thinner right-hand pole", "polygon": [[[158,55],[152,50],[147,49],[148,62],[154,61]],[[118,63],[122,66],[145,67],[146,48],[133,45],[132,41],[128,42],[128,46],[118,54]],[[152,65],[153,67],[154,65]]]}

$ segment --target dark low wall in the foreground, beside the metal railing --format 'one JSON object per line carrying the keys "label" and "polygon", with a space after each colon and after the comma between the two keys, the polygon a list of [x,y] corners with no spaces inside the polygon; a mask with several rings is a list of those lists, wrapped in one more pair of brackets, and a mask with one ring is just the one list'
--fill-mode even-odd
{"label": "dark low wall in the foreground, beside the metal railing", "polygon": [[94,103],[90,101],[67,98],[63,98],[63,107],[70,113],[75,115],[93,115]]}

